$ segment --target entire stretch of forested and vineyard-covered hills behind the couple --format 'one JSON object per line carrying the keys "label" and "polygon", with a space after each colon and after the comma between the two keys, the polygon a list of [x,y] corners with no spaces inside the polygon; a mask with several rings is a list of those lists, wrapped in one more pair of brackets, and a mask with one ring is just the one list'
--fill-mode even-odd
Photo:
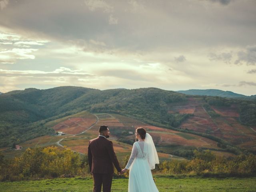
{"label": "entire stretch of forested and vineyard-covered hills behind the couple", "polygon": [[[97,135],[100,124],[108,124],[120,156],[124,146],[123,155],[130,150],[134,136],[129,132],[137,126],[152,132],[163,157],[190,157],[196,148],[228,156],[256,152],[256,102],[252,100],[157,88],[101,91],[69,86],[1,94],[0,106],[0,146],[4,150],[14,144],[56,144],[54,133],[63,131],[68,138],[60,136],[60,144],[84,152],[84,142]],[[99,122],[76,135],[94,124],[96,116]]]}

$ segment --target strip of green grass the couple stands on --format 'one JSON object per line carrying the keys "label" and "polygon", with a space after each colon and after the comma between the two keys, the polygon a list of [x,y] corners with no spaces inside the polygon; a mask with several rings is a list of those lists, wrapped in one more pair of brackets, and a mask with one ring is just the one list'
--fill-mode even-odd
{"label": "strip of green grass the couple stands on", "polygon": [[[159,192],[255,192],[256,178],[155,177]],[[1,192],[92,192],[92,178],[0,182]],[[112,192],[127,192],[128,179],[113,179]]]}

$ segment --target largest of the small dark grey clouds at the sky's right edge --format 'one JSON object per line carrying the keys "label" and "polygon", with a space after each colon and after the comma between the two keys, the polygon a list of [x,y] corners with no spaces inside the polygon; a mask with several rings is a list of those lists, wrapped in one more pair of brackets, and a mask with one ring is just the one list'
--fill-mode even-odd
{"label": "largest of the small dark grey clouds at the sky's right edge", "polygon": [[235,64],[247,64],[255,65],[256,64],[256,45],[247,46],[245,51],[240,51],[237,54],[238,59],[235,61]]}

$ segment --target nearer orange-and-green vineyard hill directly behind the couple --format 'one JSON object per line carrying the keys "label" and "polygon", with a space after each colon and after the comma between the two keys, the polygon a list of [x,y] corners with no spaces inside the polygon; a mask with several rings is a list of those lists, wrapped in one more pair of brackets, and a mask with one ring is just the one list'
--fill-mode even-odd
{"label": "nearer orange-and-green vineyard hill directly behind the couple", "polygon": [[22,142],[20,143],[22,150],[10,150],[10,148],[0,150],[8,158],[21,154],[28,147],[40,146],[63,146],[85,154],[89,140],[98,136],[98,127],[102,124],[107,124],[110,128],[109,139],[112,140],[119,159],[130,155],[134,131],[141,126],[152,135],[161,160],[170,158],[182,160],[179,156],[190,158],[193,150],[199,148],[209,149],[217,155],[233,156],[218,147],[218,142],[202,136],[152,126],[118,114],[90,114],[86,111],[47,123],[47,126],[52,127],[56,132],[64,132],[65,135],[47,135]]}

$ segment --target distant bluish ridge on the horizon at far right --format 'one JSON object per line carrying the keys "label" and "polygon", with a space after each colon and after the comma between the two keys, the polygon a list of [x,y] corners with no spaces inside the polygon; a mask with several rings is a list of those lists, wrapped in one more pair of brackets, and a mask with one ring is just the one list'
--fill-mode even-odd
{"label": "distant bluish ridge on the horizon at far right", "polygon": [[222,91],[218,89],[206,89],[206,90],[200,90],[200,89],[190,89],[186,91],[176,91],[178,93],[183,93],[186,95],[200,95],[200,96],[219,96],[219,97],[226,97],[226,98],[255,98],[254,96],[245,96],[242,94],[237,94],[231,91]]}

